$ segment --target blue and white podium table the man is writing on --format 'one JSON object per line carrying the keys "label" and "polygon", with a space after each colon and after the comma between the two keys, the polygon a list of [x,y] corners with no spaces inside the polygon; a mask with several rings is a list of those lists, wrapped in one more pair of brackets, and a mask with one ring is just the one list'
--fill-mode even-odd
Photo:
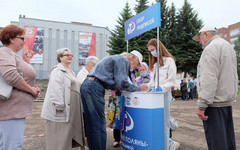
{"label": "blue and white podium table the man is writing on", "polygon": [[164,150],[164,93],[123,92],[122,150]]}

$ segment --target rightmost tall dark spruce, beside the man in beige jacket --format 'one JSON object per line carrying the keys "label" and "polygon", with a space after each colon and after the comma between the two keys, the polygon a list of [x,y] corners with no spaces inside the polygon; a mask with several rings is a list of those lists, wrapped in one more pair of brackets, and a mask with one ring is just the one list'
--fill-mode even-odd
{"label": "rightmost tall dark spruce, beside the man in beige jacket", "polygon": [[185,0],[177,15],[176,39],[176,65],[178,72],[189,73],[196,76],[197,64],[202,53],[201,45],[192,40],[202,27],[202,20],[193,10],[191,4]]}

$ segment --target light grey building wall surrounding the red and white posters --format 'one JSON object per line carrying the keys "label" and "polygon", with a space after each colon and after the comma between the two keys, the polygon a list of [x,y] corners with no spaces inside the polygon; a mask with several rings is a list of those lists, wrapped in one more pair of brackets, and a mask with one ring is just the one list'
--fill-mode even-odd
{"label": "light grey building wall surrounding the red and white posters", "polygon": [[[43,63],[31,64],[37,72],[37,79],[48,79],[49,70],[56,65],[56,50],[67,47],[74,55],[71,69],[77,74],[82,68],[79,65],[79,32],[96,34],[96,56],[102,59],[108,55],[110,31],[104,27],[56,22],[32,18],[19,18],[19,22],[11,22],[21,27],[32,26],[44,29]],[[22,56],[23,52],[19,54]]]}

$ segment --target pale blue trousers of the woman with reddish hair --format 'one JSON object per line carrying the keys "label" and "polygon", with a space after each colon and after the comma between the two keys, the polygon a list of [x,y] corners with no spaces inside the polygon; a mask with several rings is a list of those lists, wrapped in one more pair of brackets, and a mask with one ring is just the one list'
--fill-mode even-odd
{"label": "pale blue trousers of the woman with reddish hair", "polygon": [[21,150],[25,118],[0,121],[0,150]]}

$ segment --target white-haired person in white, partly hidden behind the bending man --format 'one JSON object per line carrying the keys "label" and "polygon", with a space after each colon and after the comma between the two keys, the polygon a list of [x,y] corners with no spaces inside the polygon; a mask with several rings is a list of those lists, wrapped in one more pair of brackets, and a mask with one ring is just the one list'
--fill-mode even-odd
{"label": "white-haired person in white, partly hidden behind the bending man", "polygon": [[82,67],[82,69],[77,74],[77,79],[80,81],[80,84],[87,78],[87,75],[92,70],[92,68],[98,62],[98,58],[96,56],[89,56],[86,59],[86,66]]}

